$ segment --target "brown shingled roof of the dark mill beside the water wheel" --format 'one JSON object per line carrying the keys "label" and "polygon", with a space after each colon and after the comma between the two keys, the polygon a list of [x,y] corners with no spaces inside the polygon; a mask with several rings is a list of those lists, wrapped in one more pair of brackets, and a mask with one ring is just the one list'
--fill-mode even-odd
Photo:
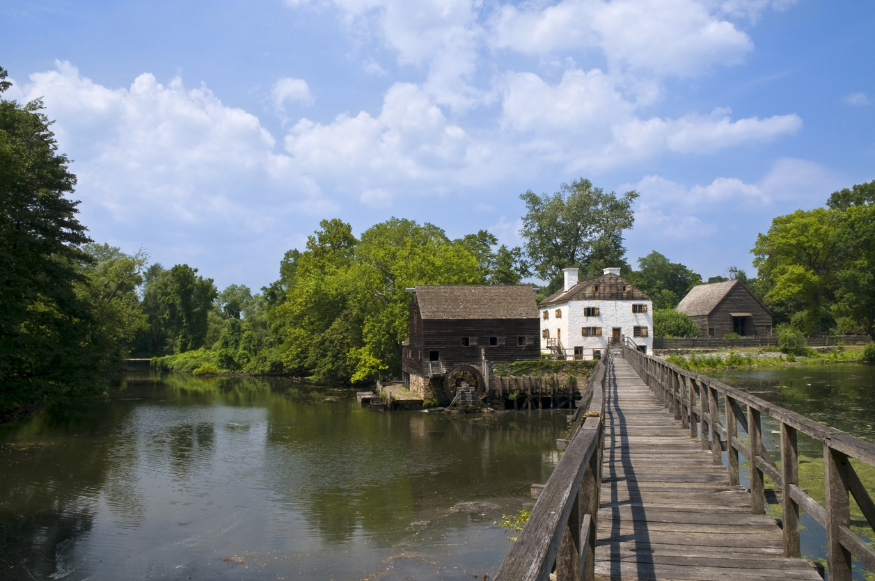
{"label": "brown shingled roof of the dark mill beside the water wheel", "polygon": [[537,318],[528,284],[417,284],[419,314],[425,318]]}

